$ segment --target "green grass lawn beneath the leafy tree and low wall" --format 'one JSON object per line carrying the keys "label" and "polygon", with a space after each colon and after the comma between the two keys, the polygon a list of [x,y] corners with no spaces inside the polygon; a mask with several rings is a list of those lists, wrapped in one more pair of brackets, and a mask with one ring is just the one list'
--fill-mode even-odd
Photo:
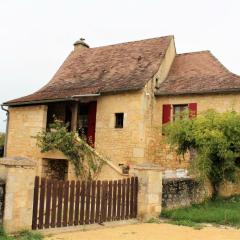
{"label": "green grass lawn beneath the leafy tree and low wall", "polygon": [[163,210],[161,217],[179,225],[212,223],[240,227],[240,196],[194,204],[186,208]]}

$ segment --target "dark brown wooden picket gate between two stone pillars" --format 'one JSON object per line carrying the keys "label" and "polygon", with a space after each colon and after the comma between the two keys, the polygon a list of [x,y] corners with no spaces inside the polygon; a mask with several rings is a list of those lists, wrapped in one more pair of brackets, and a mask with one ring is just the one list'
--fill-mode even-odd
{"label": "dark brown wooden picket gate between two stone pillars", "polygon": [[35,178],[32,229],[137,217],[138,178],[59,181]]}

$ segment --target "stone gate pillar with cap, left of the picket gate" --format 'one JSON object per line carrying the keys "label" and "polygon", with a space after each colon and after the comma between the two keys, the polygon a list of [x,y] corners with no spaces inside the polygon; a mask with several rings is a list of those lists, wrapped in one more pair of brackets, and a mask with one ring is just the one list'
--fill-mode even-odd
{"label": "stone gate pillar with cap, left of the picket gate", "polygon": [[3,226],[9,233],[31,229],[35,165],[21,157],[0,160],[0,177],[6,182]]}

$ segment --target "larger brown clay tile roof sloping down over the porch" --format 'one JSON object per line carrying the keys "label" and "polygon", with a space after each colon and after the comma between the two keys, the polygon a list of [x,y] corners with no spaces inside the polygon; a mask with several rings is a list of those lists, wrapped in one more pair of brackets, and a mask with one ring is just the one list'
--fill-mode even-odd
{"label": "larger brown clay tile roof sloping down over the porch", "polygon": [[158,71],[172,36],[72,51],[39,91],[5,105],[142,89]]}

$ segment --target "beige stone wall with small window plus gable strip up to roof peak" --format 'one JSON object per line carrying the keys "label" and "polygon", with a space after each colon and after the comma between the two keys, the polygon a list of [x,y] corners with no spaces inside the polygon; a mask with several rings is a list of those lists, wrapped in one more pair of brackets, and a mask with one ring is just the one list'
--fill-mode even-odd
{"label": "beige stone wall with small window plus gable strip up to roof peak", "polygon": [[[176,49],[172,39],[158,72],[142,91],[98,98],[96,149],[115,164],[137,164],[150,160],[149,146],[154,137],[154,89],[166,78],[175,55]],[[124,112],[123,129],[114,128],[117,112]]]}

